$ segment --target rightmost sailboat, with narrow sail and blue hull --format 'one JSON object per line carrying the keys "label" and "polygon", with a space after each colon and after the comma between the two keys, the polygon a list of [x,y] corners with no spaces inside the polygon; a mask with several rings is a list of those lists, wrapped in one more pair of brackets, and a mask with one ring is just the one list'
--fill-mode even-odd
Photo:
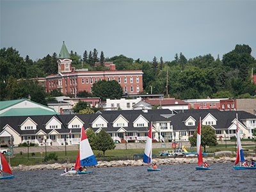
{"label": "rightmost sailboat, with narrow sail and blue hull", "polygon": [[[236,161],[235,161],[235,166],[234,170],[256,170],[256,166],[242,166],[242,162],[244,162],[244,154],[243,154],[243,148],[241,145],[241,140],[240,140],[240,135],[239,135],[239,125],[238,125],[238,118],[236,114],[236,139],[237,139],[237,153],[236,153]],[[240,166],[236,166],[238,164]]]}

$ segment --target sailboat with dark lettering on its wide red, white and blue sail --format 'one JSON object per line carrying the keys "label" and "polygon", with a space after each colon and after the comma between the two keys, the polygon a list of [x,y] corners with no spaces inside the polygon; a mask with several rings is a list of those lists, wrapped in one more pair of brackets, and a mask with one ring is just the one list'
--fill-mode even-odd
{"label": "sailboat with dark lettering on its wide red, white and blue sail", "polygon": [[[79,152],[77,154],[76,158],[76,165],[75,165],[75,170],[79,170],[81,166],[94,166],[98,164],[92,148],[90,146],[90,143],[88,141],[86,132],[84,131],[84,127],[81,128],[81,139],[80,139],[80,147],[79,147]],[[77,172],[79,174],[89,174],[93,172]]]}

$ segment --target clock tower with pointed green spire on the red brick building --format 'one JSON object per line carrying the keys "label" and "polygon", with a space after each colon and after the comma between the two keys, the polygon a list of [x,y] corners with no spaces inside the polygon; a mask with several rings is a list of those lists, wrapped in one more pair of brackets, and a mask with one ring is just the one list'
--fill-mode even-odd
{"label": "clock tower with pointed green spire on the red brick building", "polygon": [[66,73],[72,71],[72,60],[70,59],[70,54],[68,53],[65,42],[63,42],[60,54],[58,56],[58,72]]}

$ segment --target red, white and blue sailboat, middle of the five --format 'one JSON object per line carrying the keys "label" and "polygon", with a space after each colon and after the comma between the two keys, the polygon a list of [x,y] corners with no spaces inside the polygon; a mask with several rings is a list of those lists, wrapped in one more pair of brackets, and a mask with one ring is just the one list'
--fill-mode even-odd
{"label": "red, white and blue sailboat, middle of the five", "polygon": [[161,169],[152,168],[152,123],[148,131],[147,143],[143,155],[143,162],[150,165],[150,168],[148,168],[148,172],[161,171]]}

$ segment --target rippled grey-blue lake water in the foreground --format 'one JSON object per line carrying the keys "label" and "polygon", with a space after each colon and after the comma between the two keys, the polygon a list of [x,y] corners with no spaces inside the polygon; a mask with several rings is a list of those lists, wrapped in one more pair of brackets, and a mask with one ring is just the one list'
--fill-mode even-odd
{"label": "rippled grey-blue lake water in the foreground", "polygon": [[0,191],[256,191],[256,170],[234,170],[231,163],[196,171],[196,164],[88,168],[90,175],[60,176],[63,170],[13,172]]}

